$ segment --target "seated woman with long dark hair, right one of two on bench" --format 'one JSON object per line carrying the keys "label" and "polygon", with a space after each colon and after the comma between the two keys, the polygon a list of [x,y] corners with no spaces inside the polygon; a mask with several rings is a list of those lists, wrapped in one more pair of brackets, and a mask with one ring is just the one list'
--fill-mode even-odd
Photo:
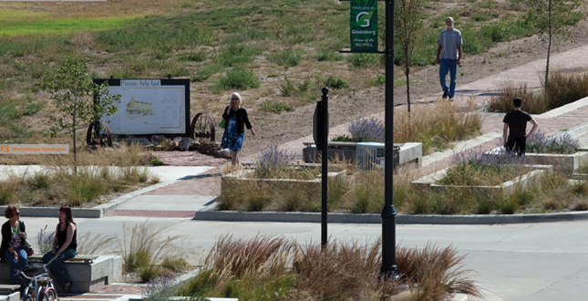
{"label": "seated woman with long dark hair, right one of two on bench", "polygon": [[51,263],[50,269],[57,280],[59,286],[62,287],[61,293],[69,292],[71,281],[67,277],[67,272],[62,268],[63,263],[67,259],[74,258],[77,254],[77,228],[74,223],[74,216],[71,213],[69,206],[62,206],[59,208],[59,223],[55,229],[55,237],[53,237],[53,249],[51,252],[43,255],[43,263],[48,263],[52,257],[63,255]]}

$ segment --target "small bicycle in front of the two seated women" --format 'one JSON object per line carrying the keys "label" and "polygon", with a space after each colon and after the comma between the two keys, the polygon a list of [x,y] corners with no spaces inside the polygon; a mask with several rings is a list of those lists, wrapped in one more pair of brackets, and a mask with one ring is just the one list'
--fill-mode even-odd
{"label": "small bicycle in front of the two seated women", "polygon": [[[54,260],[61,257],[63,257],[63,255],[53,257],[45,265],[29,265],[15,270],[15,275],[19,276],[23,283],[25,283],[24,279],[29,280],[28,285],[26,285],[22,293],[23,301],[57,301],[57,290],[55,289],[55,285],[53,285],[53,279],[49,276],[47,267],[51,265]],[[45,272],[35,275],[39,268],[42,268]]]}

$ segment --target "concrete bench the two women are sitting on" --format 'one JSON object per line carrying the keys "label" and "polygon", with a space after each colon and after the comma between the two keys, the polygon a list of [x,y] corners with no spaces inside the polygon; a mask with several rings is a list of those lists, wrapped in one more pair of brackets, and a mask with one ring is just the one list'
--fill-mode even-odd
{"label": "concrete bench the two women are sitting on", "polygon": [[[29,264],[41,263],[41,255],[28,256]],[[116,282],[122,276],[122,257],[115,255],[78,254],[63,265],[71,281],[72,293],[86,293],[100,286]],[[0,265],[0,284],[8,283],[10,265]],[[57,285],[55,277],[54,283]]]}

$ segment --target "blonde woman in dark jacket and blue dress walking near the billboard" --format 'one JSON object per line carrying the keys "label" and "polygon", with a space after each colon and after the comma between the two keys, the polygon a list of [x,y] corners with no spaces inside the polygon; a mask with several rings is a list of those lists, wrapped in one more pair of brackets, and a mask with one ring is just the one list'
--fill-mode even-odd
{"label": "blonde woman in dark jacket and blue dress walking near the billboard", "polygon": [[[249,122],[247,110],[241,107],[242,98],[239,93],[232,93],[231,102],[229,106],[222,112],[222,118],[226,119],[227,126],[222,134],[221,147],[223,149],[231,150],[231,165],[234,167],[239,164],[239,151],[241,151],[243,139],[245,138],[245,129],[251,130],[251,134],[255,137],[255,131]],[[244,125],[244,126],[243,126]]]}

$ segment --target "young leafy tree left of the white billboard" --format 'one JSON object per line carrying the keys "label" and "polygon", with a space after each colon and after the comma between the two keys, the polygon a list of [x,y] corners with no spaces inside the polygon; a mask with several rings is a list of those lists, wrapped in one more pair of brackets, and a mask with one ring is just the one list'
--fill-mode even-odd
{"label": "young leafy tree left of the white billboard", "polygon": [[61,66],[51,67],[41,79],[40,88],[57,101],[56,108],[61,114],[51,117],[57,124],[50,129],[51,137],[61,132],[73,136],[74,174],[77,174],[76,131],[88,127],[104,114],[116,113],[118,109],[113,103],[120,95],[109,94],[108,83],[98,86],[92,82],[84,59],[68,60]]}

